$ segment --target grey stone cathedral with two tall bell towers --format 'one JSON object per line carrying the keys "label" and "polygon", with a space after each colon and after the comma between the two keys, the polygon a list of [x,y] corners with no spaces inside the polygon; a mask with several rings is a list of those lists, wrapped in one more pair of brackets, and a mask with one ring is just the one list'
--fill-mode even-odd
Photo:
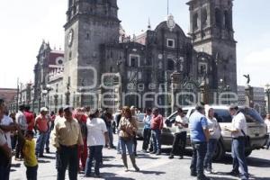
{"label": "grey stone cathedral with two tall bell towers", "polygon": [[215,92],[236,93],[232,1],[189,0],[188,34],[168,15],[155,29],[148,24],[130,37],[121,27],[117,0],[68,0],[63,69],[48,72],[48,104],[170,106],[174,73],[179,91],[197,94],[207,86],[209,103]]}

